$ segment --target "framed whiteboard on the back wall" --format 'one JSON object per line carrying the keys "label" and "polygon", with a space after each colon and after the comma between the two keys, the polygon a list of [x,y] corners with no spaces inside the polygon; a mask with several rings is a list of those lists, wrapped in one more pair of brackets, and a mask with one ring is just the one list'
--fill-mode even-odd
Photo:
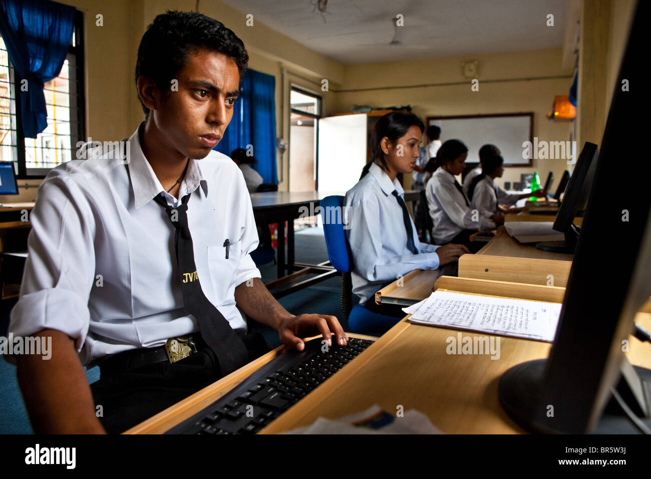
{"label": "framed whiteboard on the back wall", "polygon": [[491,143],[502,152],[504,166],[531,166],[523,158],[522,143],[533,141],[533,113],[428,117],[427,124],[441,128],[441,141],[459,139],[468,147],[467,163],[479,162],[479,149]]}

